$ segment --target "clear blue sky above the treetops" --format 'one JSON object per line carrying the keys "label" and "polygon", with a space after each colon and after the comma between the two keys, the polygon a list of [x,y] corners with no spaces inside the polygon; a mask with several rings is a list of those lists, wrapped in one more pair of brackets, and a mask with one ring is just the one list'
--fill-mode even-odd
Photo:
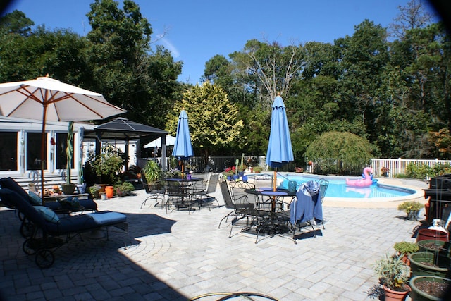
{"label": "clear blue sky above the treetops", "polygon": [[[70,28],[86,35],[85,16],[93,0],[16,0],[6,13],[18,9],[36,25],[47,29]],[[122,1],[120,1],[121,3]],[[353,35],[365,19],[388,27],[409,0],[135,0],[149,20],[157,44],[183,61],[178,80],[199,82],[206,61],[216,54],[228,58],[249,39],[279,42],[282,46],[305,42],[330,42]],[[120,4],[121,6],[121,4]],[[121,6],[122,7],[122,6]],[[426,4],[431,13],[433,9]]]}

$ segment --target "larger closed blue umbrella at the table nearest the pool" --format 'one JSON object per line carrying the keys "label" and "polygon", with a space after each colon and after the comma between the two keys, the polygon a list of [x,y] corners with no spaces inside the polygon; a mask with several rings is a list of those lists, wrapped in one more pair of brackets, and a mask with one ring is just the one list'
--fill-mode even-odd
{"label": "larger closed blue umbrella at the table nearest the pool", "polygon": [[272,109],[266,164],[274,168],[273,190],[276,191],[277,168],[294,159],[285,104],[280,95],[274,99]]}

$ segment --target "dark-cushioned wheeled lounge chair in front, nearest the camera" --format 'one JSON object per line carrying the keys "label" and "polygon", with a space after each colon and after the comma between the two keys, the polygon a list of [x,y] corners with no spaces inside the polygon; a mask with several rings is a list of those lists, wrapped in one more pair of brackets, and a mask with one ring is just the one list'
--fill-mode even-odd
{"label": "dark-cushioned wheeled lounge chair in front, nearest the camera", "polygon": [[[48,268],[54,263],[52,250],[61,247],[81,233],[98,229],[106,230],[108,239],[109,226],[123,230],[128,228],[127,216],[118,212],[101,211],[91,214],[66,215],[59,217],[49,207],[32,206],[23,195],[8,188],[0,189],[0,199],[10,208],[15,208],[33,225],[33,231],[23,243],[26,254],[35,254],[35,262],[40,268]],[[66,238],[58,238],[58,236]]]}

